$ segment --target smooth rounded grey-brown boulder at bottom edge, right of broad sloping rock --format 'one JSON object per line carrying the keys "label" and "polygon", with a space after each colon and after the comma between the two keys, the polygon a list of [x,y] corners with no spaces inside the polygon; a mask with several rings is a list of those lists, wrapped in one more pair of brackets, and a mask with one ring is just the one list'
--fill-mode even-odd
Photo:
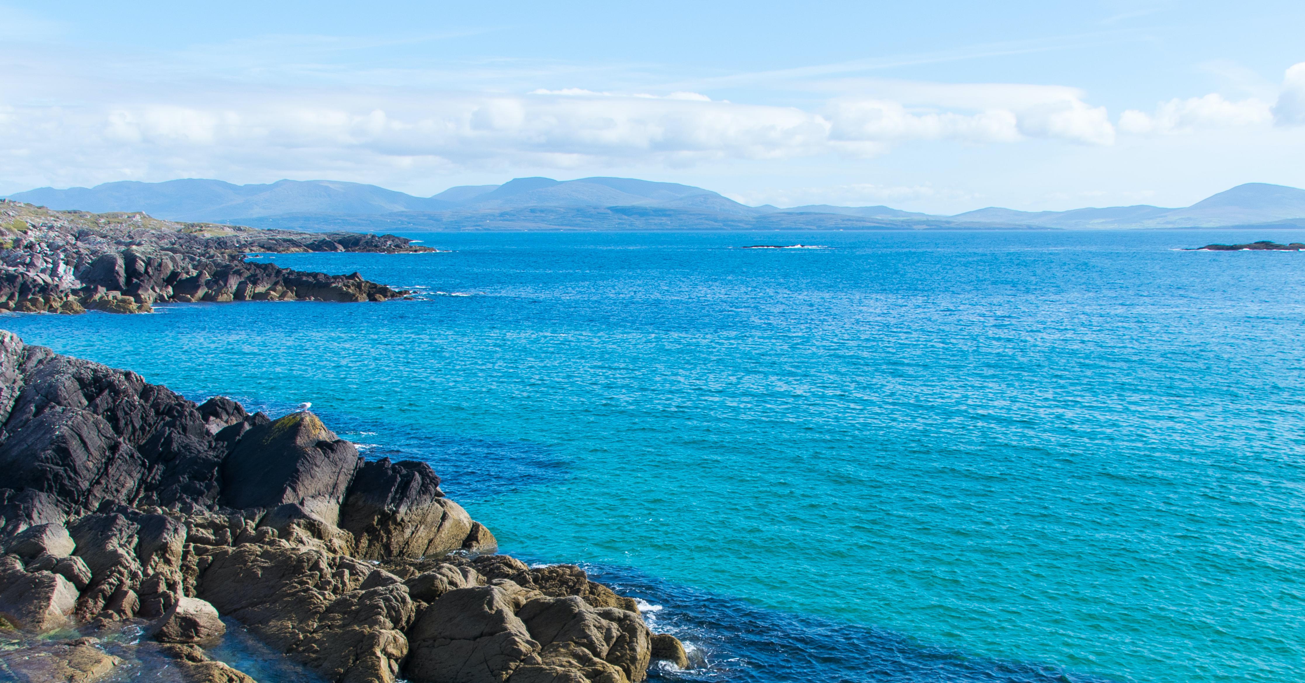
{"label": "smooth rounded grey-brown boulder at bottom edge, right of broad sloping rock", "polygon": [[403,675],[414,683],[502,683],[542,665],[539,643],[500,586],[462,588],[431,603],[408,632]]}

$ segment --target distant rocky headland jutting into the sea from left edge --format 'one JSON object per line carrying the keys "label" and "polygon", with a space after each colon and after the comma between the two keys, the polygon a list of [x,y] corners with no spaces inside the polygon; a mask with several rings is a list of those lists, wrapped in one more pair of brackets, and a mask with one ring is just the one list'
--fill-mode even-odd
{"label": "distant rocky headland jutting into the sea from left edge", "polygon": [[432,252],[394,235],[176,223],[0,200],[0,311],[149,312],[162,302],[384,302],[408,295],[358,273],[245,261],[247,253]]}

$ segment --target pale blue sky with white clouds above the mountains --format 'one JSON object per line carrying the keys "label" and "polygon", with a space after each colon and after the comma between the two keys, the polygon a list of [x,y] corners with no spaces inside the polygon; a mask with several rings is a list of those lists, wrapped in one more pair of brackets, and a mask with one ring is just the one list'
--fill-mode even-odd
{"label": "pale blue sky with white clouds above the mountains", "polygon": [[542,175],[953,214],[1305,187],[1305,3],[0,0],[0,193]]}

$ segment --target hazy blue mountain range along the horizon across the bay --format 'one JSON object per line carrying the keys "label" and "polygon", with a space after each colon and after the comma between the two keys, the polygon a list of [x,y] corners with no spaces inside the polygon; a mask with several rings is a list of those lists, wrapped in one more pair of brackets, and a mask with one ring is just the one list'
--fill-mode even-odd
{"label": "hazy blue mountain range along the horizon across the bay", "polygon": [[1248,183],[1191,206],[1067,212],[987,208],[932,215],[889,206],[748,206],[710,189],[629,178],[518,178],[415,197],[361,183],[279,180],[119,182],[39,188],[10,200],[95,213],[144,212],[170,221],[294,230],[873,230],[1305,227],[1305,189]]}

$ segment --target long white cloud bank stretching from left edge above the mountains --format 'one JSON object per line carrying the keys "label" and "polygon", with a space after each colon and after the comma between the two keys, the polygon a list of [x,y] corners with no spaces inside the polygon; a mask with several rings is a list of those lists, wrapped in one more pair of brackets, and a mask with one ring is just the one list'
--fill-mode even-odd
{"label": "long white cloud bank stretching from left edge above the mountains", "polygon": [[[185,102],[0,108],[0,153],[48,182],[348,165],[457,170],[671,167],[716,159],[868,157],[919,140],[1009,144],[1030,138],[1111,144],[1101,108],[1075,95],[957,111],[840,98],[817,111],[746,104],[692,91],[583,89],[529,94],[261,93]],[[243,162],[240,159],[244,159]],[[85,178],[85,179],[82,179]]]}

